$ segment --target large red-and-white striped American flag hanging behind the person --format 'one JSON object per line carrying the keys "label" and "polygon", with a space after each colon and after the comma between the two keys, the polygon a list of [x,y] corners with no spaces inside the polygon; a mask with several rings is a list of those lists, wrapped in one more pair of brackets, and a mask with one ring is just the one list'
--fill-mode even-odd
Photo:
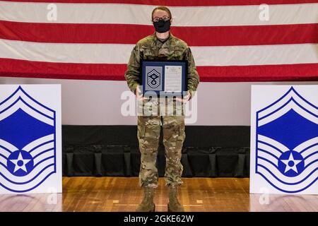
{"label": "large red-and-white striped American flag hanging behind the person", "polygon": [[0,76],[123,81],[158,5],[200,81],[318,81],[317,0],[0,1]]}

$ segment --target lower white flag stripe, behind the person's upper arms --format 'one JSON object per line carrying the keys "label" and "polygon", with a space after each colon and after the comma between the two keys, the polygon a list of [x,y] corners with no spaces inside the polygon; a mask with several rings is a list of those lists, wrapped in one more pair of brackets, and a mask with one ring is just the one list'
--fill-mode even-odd
{"label": "lower white flag stripe, behind the person's upper arms", "polygon": [[[0,57],[30,61],[127,64],[134,44],[62,44],[0,39]],[[117,54],[110,54],[116,52]],[[196,66],[310,64],[318,44],[192,47]],[[242,57],[245,56],[245,57]]]}

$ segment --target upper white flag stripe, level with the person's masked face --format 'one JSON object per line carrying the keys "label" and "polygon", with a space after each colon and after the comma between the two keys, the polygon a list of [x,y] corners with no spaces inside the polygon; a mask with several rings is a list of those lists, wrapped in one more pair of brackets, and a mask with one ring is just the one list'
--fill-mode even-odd
{"label": "upper white flag stripe, level with the person's masked face", "polygon": [[[57,20],[47,20],[49,3],[0,1],[0,20],[29,23],[119,23],[151,25],[155,6],[141,4],[56,4]],[[253,6],[170,6],[173,25],[278,25],[317,23],[318,4],[269,5],[269,20]],[[189,19],[191,15],[191,20]]]}

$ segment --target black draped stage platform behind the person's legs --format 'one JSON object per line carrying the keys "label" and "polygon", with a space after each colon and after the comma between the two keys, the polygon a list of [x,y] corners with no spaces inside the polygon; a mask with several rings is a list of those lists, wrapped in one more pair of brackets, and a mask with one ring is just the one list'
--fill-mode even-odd
{"label": "black draped stage platform behind the person's legs", "polygon": [[[249,177],[249,126],[186,126],[183,177]],[[158,173],[165,169],[161,129]],[[136,177],[137,126],[62,126],[63,176]]]}

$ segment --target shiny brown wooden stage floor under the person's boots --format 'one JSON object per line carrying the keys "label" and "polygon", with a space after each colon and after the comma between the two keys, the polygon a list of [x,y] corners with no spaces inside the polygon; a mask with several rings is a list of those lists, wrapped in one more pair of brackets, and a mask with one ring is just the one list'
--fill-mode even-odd
{"label": "shiny brown wooden stage floor under the person's boots", "polygon": [[[183,182],[180,201],[186,211],[318,211],[318,196],[249,194],[248,178],[183,178]],[[0,211],[126,212],[135,210],[142,195],[138,177],[64,177],[63,194],[3,194]],[[160,177],[156,211],[167,211],[167,201]]]}

